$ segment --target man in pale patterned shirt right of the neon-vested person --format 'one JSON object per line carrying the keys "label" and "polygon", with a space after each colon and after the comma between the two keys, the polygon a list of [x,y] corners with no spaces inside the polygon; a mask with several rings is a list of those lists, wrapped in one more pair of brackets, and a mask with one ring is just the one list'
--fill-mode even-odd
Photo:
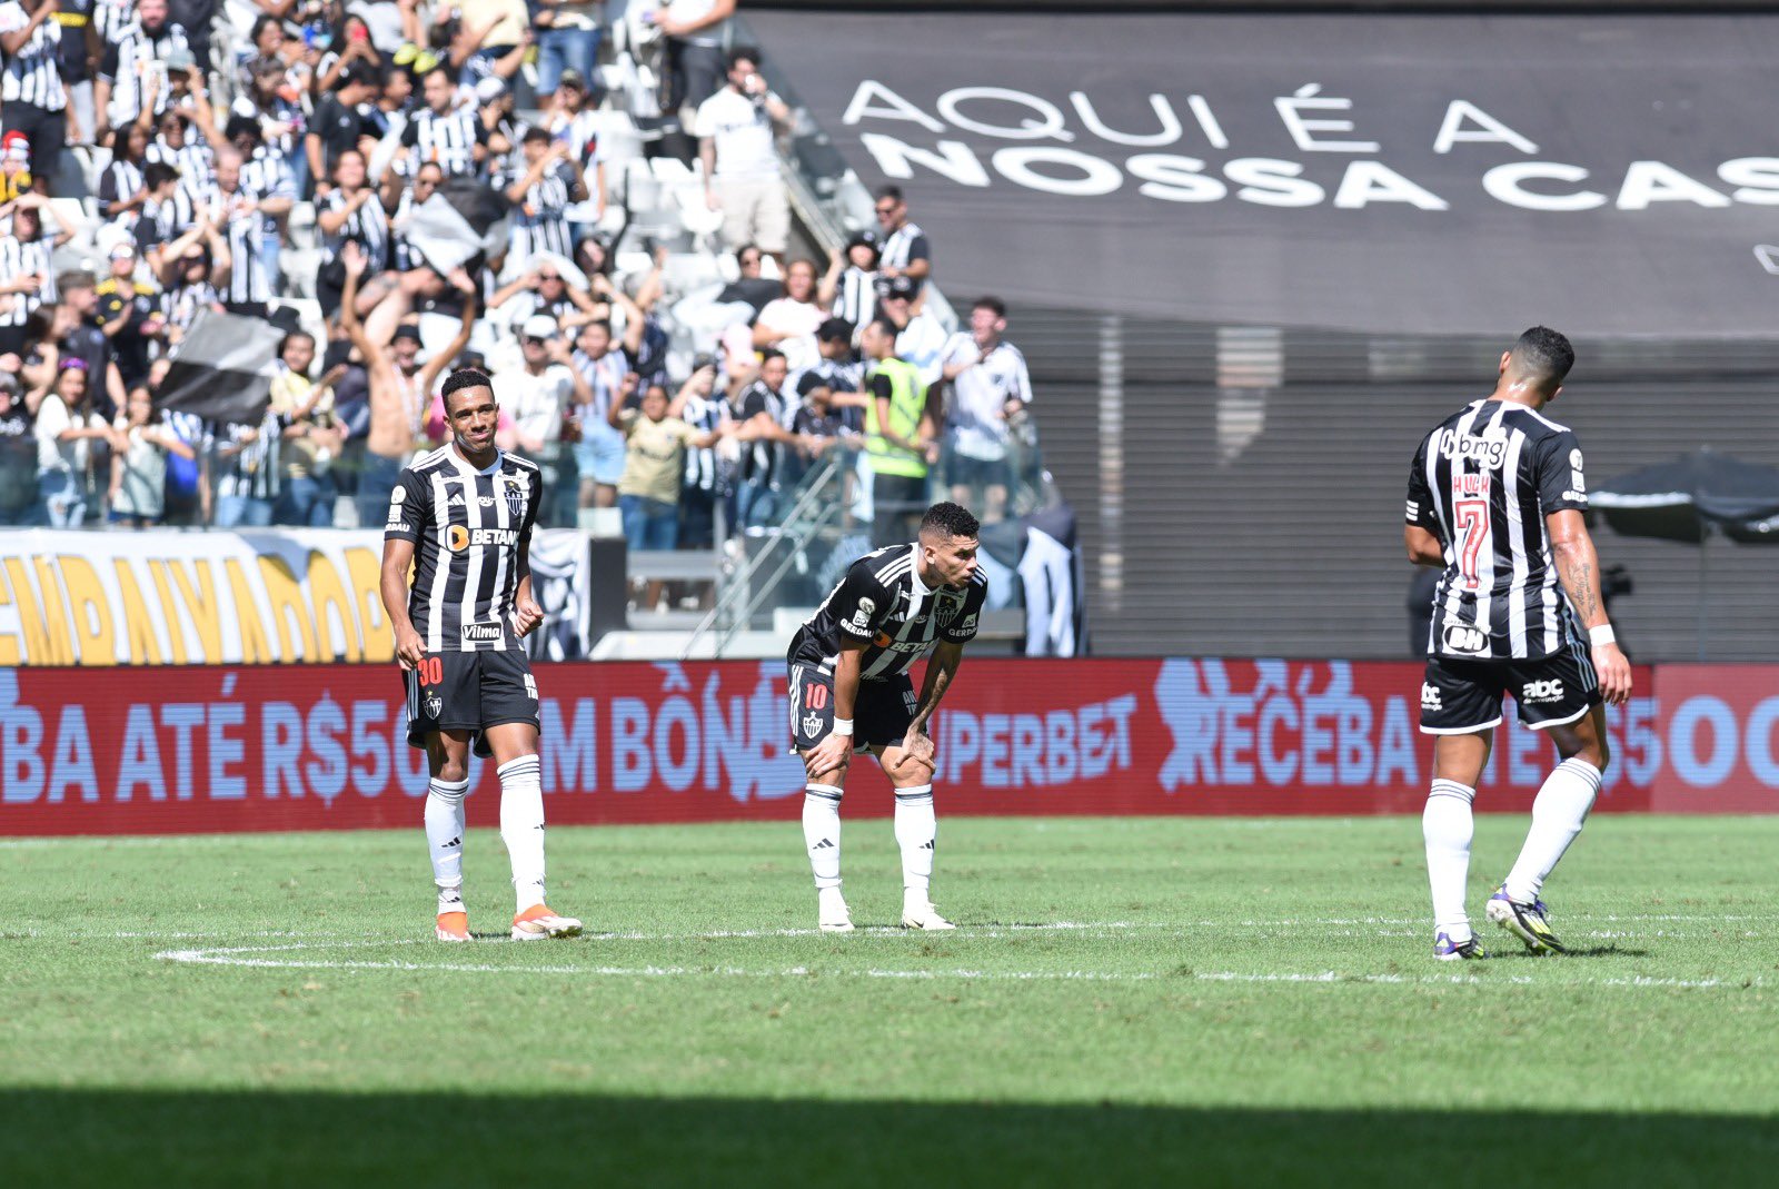
{"label": "man in pale patterned shirt right of the neon-vested person", "polygon": [[1025,356],[1002,335],[1007,306],[1000,297],[978,297],[970,308],[970,329],[945,344],[943,376],[952,386],[945,409],[945,482],[964,507],[980,507],[982,523],[1007,514],[1012,466],[1010,424],[1032,402]]}

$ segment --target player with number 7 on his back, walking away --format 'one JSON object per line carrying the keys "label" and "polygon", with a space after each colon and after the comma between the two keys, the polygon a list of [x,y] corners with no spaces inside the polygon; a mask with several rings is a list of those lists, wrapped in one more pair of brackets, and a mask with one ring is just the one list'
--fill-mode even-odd
{"label": "player with number 7 on his back, walking away", "polygon": [[1582,833],[1606,771],[1601,703],[1631,694],[1631,666],[1614,643],[1582,520],[1582,449],[1544,417],[1571,365],[1569,340],[1533,326],[1501,354],[1494,393],[1427,434],[1409,472],[1409,561],[1445,570],[1421,683],[1421,730],[1436,737],[1421,833],[1434,956],[1445,961],[1485,958],[1464,911],[1464,879],[1471,801],[1503,691],[1519,721],[1548,732],[1562,756],[1532,805],[1519,860],[1485,910],[1535,954],[1564,949],[1539,892]]}

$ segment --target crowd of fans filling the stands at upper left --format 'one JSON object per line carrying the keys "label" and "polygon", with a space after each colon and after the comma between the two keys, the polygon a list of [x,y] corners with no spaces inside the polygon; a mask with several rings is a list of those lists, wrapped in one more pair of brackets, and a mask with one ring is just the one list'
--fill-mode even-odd
{"label": "crowd of fans filling the stands at upper left", "polygon": [[[461,367],[543,523],[619,507],[632,548],[776,523],[829,452],[886,539],[941,488],[1007,514],[1005,308],[946,331],[895,187],[797,253],[733,9],[0,0],[0,525],[381,527]],[[242,319],[263,415],[187,411],[178,361]]]}

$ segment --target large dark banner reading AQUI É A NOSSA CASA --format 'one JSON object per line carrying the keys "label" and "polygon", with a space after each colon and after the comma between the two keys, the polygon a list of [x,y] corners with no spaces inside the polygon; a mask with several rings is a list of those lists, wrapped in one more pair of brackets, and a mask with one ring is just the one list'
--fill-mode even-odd
{"label": "large dark banner reading AQUI \u00c9 A NOSSA CASA", "polygon": [[907,192],[954,297],[1382,335],[1774,333],[1779,21],[749,21],[859,178]]}

